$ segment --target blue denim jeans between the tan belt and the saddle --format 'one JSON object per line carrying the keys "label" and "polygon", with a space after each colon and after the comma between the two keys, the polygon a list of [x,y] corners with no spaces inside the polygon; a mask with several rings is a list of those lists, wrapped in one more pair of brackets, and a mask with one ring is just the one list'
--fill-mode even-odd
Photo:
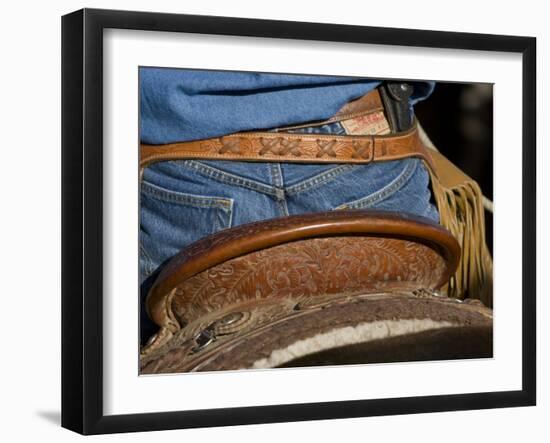
{"label": "blue denim jeans between the tan belt and the saddle", "polygon": [[[344,133],[339,123],[300,132]],[[141,183],[142,296],[163,263],[222,229],[285,215],[363,208],[438,221],[430,197],[428,172],[415,158],[366,165],[218,160],[153,164]],[[142,321],[148,320],[142,316]]]}

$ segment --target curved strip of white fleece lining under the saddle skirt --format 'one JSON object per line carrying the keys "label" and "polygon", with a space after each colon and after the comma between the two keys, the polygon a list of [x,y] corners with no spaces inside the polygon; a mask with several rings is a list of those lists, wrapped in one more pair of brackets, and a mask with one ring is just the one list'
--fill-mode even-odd
{"label": "curved strip of white fleece lining under the saddle skirt", "polygon": [[252,368],[274,368],[296,358],[326,351],[327,349],[456,326],[460,325],[449,321],[431,319],[380,320],[361,323],[357,326],[346,326],[304,340],[298,340],[286,348],[276,349],[271,352],[268,358],[256,360]]}

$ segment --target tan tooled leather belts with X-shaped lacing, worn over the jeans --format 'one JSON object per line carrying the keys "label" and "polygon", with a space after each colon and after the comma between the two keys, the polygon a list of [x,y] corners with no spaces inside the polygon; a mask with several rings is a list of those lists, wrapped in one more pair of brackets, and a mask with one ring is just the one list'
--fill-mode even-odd
{"label": "tan tooled leather belts with X-shaped lacing, worn over the jeans", "polygon": [[[374,90],[361,99],[348,103],[334,117],[321,124],[357,118],[382,110],[379,92]],[[421,158],[434,170],[430,154],[420,140],[416,122],[407,131],[388,135],[241,132],[164,145],[142,144],[140,173],[147,166],[165,160],[365,164],[408,157]]]}

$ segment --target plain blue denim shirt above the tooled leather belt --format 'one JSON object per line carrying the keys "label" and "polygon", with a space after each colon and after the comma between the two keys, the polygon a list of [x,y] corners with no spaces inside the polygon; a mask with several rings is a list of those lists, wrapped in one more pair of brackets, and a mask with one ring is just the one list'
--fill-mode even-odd
{"label": "plain blue denim shirt above the tooled leather belt", "polygon": [[[325,120],[379,84],[358,77],[142,67],[140,139],[164,144]],[[411,106],[433,87],[415,82]]]}

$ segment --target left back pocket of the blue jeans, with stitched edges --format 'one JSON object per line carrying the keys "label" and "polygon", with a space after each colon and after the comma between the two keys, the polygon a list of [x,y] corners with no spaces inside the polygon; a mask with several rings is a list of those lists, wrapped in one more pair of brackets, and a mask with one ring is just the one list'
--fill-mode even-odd
{"label": "left back pocket of the blue jeans, with stitched edges", "polygon": [[186,194],[143,181],[140,195],[140,280],[182,248],[231,227],[233,199]]}

